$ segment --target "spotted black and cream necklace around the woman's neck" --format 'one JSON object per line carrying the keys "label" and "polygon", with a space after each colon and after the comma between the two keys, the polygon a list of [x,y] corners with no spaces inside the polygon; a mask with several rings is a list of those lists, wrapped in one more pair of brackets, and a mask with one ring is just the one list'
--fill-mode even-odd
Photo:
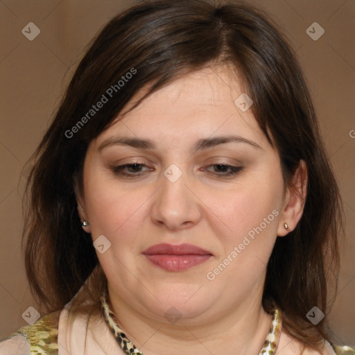
{"label": "spotted black and cream necklace around the woman's neck", "polygon": [[[135,347],[135,345],[125,336],[123,330],[119,327],[116,322],[114,322],[114,313],[111,311],[110,306],[106,301],[105,292],[100,297],[101,300],[101,309],[103,311],[103,318],[105,319],[106,324],[110,328],[110,331],[116,338],[117,343],[121,349],[127,355],[137,354],[143,355],[143,353]],[[270,331],[265,338],[263,347],[259,352],[259,355],[274,355],[277,349],[277,344],[279,343],[279,337],[281,334],[282,328],[282,312],[275,307],[274,317],[271,322]]]}

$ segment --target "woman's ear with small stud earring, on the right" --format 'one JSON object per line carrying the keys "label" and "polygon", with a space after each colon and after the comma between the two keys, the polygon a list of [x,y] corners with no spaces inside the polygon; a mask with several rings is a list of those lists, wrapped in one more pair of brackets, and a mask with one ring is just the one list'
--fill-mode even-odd
{"label": "woman's ear with small stud earring, on the right", "polygon": [[[295,174],[286,188],[282,218],[279,220],[277,236],[286,236],[286,234],[295,229],[301,219],[304,203],[306,202],[307,185],[308,170],[306,162],[301,159]],[[290,231],[286,230],[284,223],[287,223]]]}

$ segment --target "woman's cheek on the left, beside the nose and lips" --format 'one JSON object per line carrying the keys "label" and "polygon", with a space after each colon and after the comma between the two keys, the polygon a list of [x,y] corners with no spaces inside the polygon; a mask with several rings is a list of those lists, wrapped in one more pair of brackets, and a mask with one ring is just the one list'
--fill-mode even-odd
{"label": "woman's cheek on the left, beside the nose and lips", "polygon": [[[104,235],[111,247],[98,254],[107,279],[121,280],[123,284],[132,282],[128,270],[135,270],[141,250],[141,231],[146,218],[145,202],[151,193],[143,189],[123,191],[119,184],[101,182],[94,179],[87,184],[87,206],[89,207],[92,238]],[[122,268],[121,266],[125,267]],[[116,285],[119,288],[119,285]]]}

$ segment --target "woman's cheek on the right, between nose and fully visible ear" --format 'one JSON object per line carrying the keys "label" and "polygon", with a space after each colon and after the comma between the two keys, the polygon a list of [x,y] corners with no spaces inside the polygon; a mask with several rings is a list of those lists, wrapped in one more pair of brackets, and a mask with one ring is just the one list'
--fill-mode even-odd
{"label": "woman's cheek on the right, between nose and fully visible ear", "polygon": [[218,216],[214,232],[223,245],[218,257],[222,261],[229,257],[225,261],[231,265],[225,277],[238,274],[240,279],[244,275],[255,281],[265,270],[277,236],[282,192],[281,171],[279,175],[260,171],[209,200],[210,204],[214,201],[213,214]]}

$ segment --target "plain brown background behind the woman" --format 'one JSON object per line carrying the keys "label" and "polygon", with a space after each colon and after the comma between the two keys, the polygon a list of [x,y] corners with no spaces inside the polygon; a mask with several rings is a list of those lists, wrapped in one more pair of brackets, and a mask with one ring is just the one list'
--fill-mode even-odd
{"label": "plain brown background behind the woman", "polygon": [[[347,208],[347,241],[331,324],[334,342],[355,346],[355,1],[250,2],[272,15],[297,51],[340,182]],[[25,325],[21,314],[29,306],[36,307],[28,291],[20,248],[21,194],[26,177],[21,168],[48,127],[84,46],[116,12],[132,3],[0,1],[0,338]],[[306,34],[315,21],[325,30],[317,41]],[[41,31],[33,41],[21,33],[29,22]]]}

